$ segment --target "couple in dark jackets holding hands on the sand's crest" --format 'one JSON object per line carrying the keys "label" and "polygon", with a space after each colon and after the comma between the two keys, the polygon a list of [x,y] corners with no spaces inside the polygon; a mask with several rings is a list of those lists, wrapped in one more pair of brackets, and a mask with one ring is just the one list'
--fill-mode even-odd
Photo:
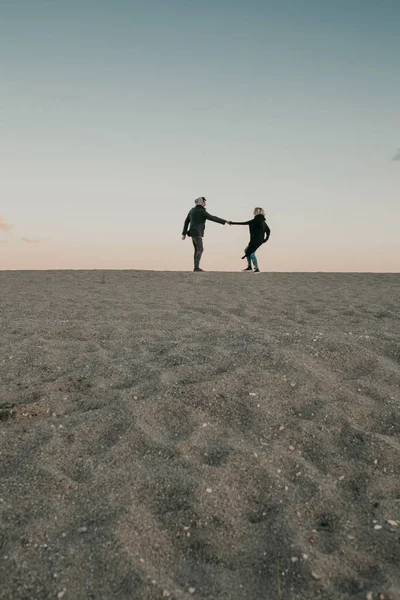
{"label": "couple in dark jackets holding hands on the sand's crest", "polygon": [[220,223],[221,225],[248,225],[250,229],[250,241],[244,251],[242,258],[247,259],[247,267],[243,271],[252,271],[252,263],[254,266],[254,273],[259,273],[258,262],[256,257],[256,250],[265,242],[268,241],[270,236],[270,228],[268,227],[264,210],[260,207],[254,209],[254,218],[250,221],[236,222],[227,221],[226,219],[220,219],[214,217],[206,211],[207,200],[204,196],[196,198],[194,201],[195,206],[189,211],[188,216],[185,219],[182,231],[182,240],[186,239],[186,236],[192,238],[194,246],[194,271],[203,271],[200,269],[200,260],[203,254],[203,237],[204,230],[206,228],[206,221],[214,221],[214,223]]}

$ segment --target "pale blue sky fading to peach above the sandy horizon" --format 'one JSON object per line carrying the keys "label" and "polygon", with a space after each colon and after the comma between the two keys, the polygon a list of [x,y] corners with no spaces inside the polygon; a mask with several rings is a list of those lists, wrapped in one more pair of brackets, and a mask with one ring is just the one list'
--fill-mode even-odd
{"label": "pale blue sky fading to peach above the sandy horizon", "polygon": [[[2,0],[0,269],[400,271],[398,0]],[[247,227],[209,223],[235,271]]]}

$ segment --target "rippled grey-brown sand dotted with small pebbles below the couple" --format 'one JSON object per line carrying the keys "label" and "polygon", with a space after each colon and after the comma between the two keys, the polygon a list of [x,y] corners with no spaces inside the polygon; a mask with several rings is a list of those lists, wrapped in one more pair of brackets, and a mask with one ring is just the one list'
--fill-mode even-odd
{"label": "rippled grey-brown sand dotted with small pebbles below the couple", "polygon": [[2,600],[400,598],[400,275],[0,272],[0,311]]}

